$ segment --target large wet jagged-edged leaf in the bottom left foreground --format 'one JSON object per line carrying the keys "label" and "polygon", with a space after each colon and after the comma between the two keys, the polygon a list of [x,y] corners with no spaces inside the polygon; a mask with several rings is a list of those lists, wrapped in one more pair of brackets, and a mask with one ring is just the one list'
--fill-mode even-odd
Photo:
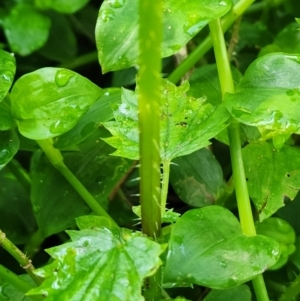
{"label": "large wet jagged-edged leaf in the bottom left foreground", "polygon": [[161,265],[164,246],[107,228],[68,234],[72,242],[47,250],[55,261],[37,271],[46,279],[30,295],[46,294],[47,301],[144,300],[142,281]]}

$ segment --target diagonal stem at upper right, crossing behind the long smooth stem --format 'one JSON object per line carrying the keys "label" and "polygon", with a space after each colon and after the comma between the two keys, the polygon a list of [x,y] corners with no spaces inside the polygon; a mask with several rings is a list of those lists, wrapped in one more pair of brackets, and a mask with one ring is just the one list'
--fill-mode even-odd
{"label": "diagonal stem at upper right, crossing behind the long smooth stem", "polygon": [[[241,0],[222,19],[222,31],[226,32],[235,20],[241,16],[255,0]],[[177,83],[197,61],[212,47],[211,37],[208,36],[183,62],[169,75],[168,80]]]}

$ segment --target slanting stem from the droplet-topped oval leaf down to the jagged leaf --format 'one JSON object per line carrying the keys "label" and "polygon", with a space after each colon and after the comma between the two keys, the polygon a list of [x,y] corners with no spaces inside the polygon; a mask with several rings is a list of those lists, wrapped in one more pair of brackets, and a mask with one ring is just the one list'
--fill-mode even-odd
{"label": "slanting stem from the droplet-topped oval leaf down to the jagged leaf", "polygon": [[94,213],[108,218],[114,227],[118,227],[111,216],[102,208],[102,206],[95,200],[95,198],[65,165],[63,156],[61,152],[53,146],[53,141],[51,139],[45,139],[38,140],[37,143],[45,152],[51,164],[67,179],[67,181],[73,186],[73,188],[78,192],[85,203],[94,211]]}

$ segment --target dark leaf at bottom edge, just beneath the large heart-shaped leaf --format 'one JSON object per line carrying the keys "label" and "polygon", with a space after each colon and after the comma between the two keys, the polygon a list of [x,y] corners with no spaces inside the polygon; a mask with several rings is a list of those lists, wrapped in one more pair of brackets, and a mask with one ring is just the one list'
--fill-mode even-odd
{"label": "dark leaf at bottom edge, just beneath the large heart-shaped leaf", "polygon": [[245,284],[226,290],[211,290],[203,301],[251,301],[251,291]]}

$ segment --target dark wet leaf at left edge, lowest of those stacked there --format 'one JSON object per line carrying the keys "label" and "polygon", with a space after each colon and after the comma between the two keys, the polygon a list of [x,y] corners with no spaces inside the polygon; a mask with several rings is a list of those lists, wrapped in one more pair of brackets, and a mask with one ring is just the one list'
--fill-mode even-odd
{"label": "dark wet leaf at left edge, lowest of those stacked there", "polygon": [[14,130],[0,131],[0,170],[19,150],[19,138]]}

